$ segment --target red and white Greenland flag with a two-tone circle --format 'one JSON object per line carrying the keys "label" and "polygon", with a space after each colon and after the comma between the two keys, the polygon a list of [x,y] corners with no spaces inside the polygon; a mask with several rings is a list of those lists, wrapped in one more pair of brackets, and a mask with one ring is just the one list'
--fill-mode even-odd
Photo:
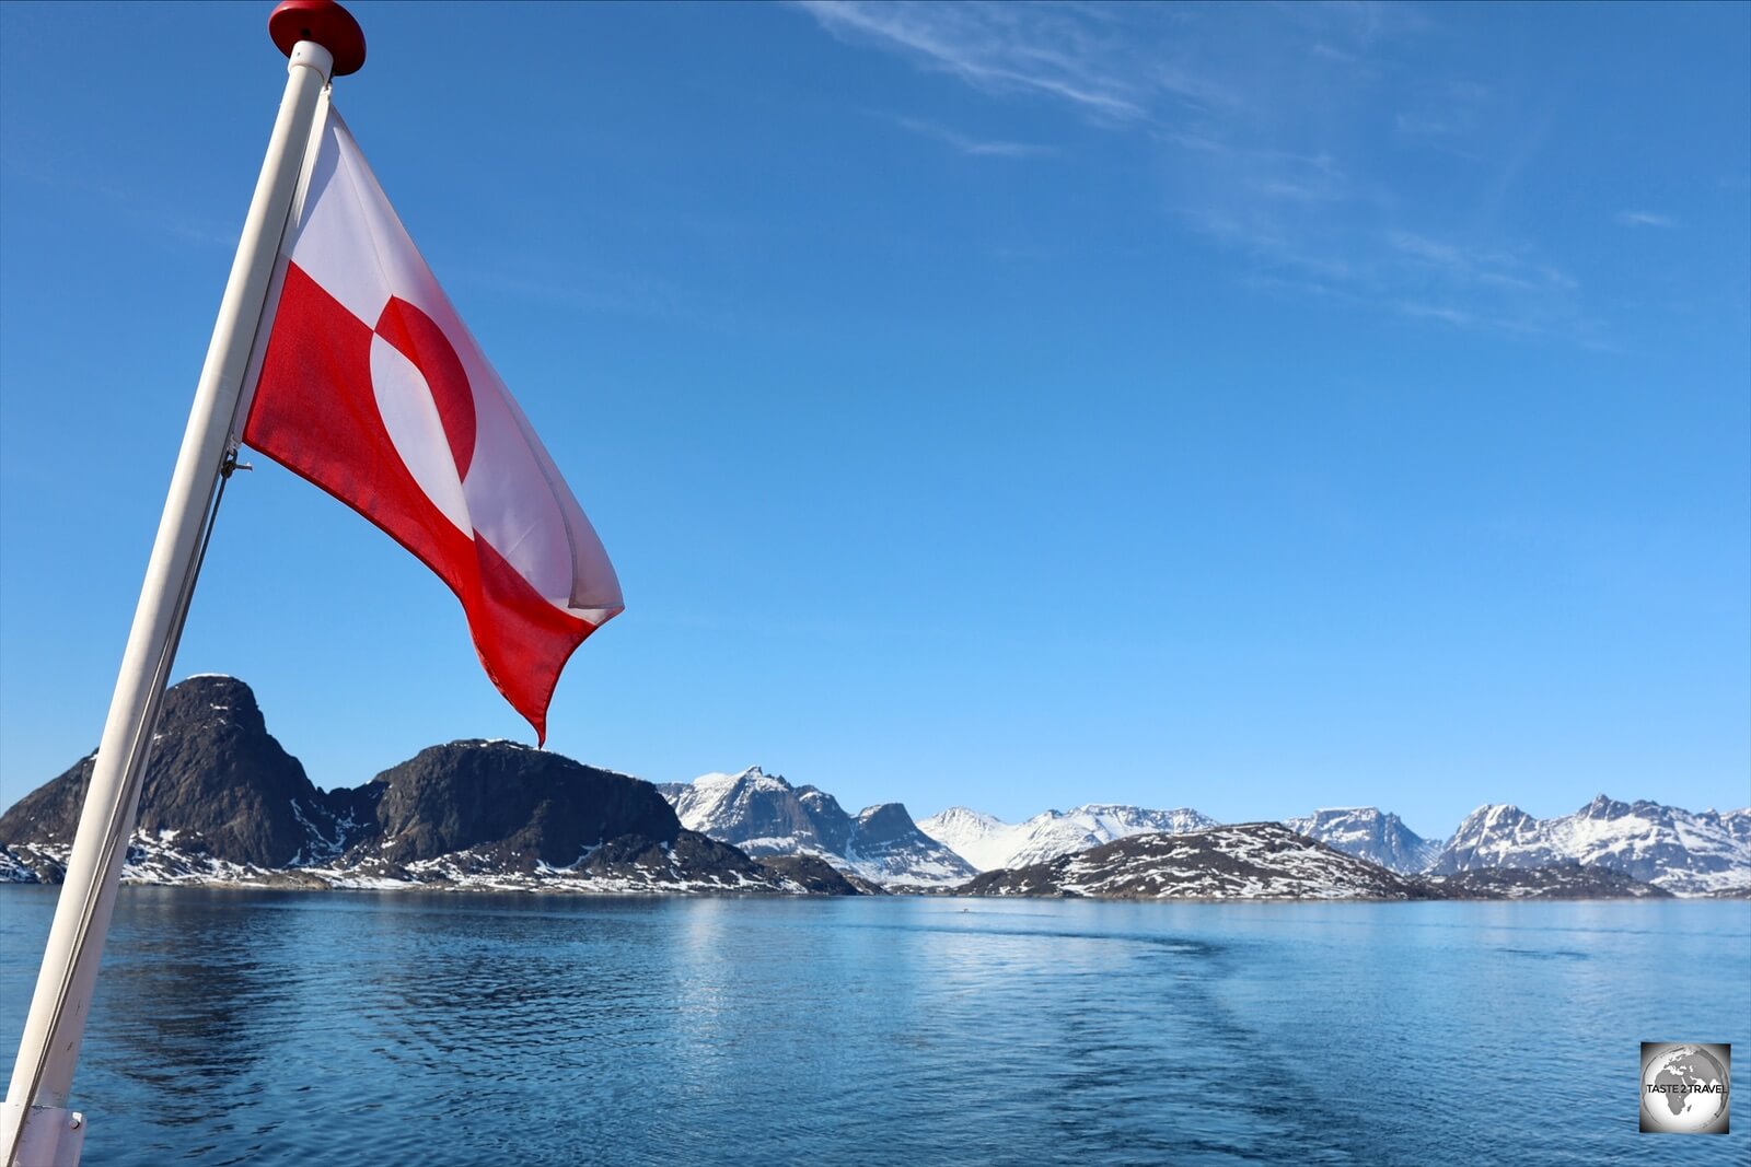
{"label": "red and white Greenland flag with a two-tone circle", "polygon": [[560,668],[622,611],[620,581],[327,100],[275,280],[243,441],[438,572],[545,742]]}

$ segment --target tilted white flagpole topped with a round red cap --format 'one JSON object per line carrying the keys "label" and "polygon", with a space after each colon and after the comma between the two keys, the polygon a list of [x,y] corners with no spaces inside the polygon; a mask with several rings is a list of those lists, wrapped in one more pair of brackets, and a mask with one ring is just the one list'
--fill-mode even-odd
{"label": "tilted white flagpole topped with a round red cap", "polygon": [[333,0],[285,0],[268,17],[268,31],[291,58],[285,96],[280,98],[268,157],[256,180],[231,276],[219,301],[212,345],[194,387],[194,406],[103,723],[12,1085],[0,1113],[4,1167],[79,1164],[86,1123],[82,1115],[67,1109],[74,1066],[133,835],[152,726],[194,593],[214,490],[229,457],[250,348],[268,310],[268,289],[317,98],[331,75],[352,73],[364,65],[364,33]]}

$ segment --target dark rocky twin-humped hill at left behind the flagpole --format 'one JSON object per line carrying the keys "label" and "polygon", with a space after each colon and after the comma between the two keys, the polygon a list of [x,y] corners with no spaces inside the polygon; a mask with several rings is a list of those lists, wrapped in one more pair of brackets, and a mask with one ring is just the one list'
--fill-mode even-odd
{"label": "dark rocky twin-humped hill at left behind the flagpole", "polygon": [[[0,877],[60,880],[91,763],[0,815]],[[364,786],[319,791],[235,677],[166,693],[124,878],[737,892],[832,882],[683,829],[648,782],[513,742],[434,745]]]}

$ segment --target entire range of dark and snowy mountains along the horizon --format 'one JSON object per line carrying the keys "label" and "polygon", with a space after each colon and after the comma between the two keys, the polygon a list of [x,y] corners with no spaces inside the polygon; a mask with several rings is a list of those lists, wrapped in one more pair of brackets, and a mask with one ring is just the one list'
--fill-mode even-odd
{"label": "entire range of dark and snowy mountains along the horizon", "polygon": [[[91,754],[81,758],[0,815],[0,880],[60,878],[91,765]],[[1269,824],[1236,826],[1247,829],[1212,835],[1217,824],[1196,810],[1122,803],[1047,810],[1019,824],[951,807],[914,822],[900,803],[849,814],[830,793],[760,766],[653,786],[482,738],[432,745],[361,786],[322,791],[268,733],[247,684],[200,675],[166,693],[126,878],[760,894],[1016,894],[1028,878],[1045,878],[981,880],[970,854],[1003,864],[986,875],[1073,861],[1045,882],[1070,873],[1086,894],[1107,894],[1089,864],[1119,856],[1126,871],[1108,882],[1131,894],[1126,880],[1145,868],[1159,868],[1157,882],[1191,885],[1243,868],[1247,856],[1280,856],[1271,871],[1275,859],[1255,864],[1250,891],[1220,894],[1297,898],[1313,884],[1297,885],[1296,871],[1329,868],[1333,852],[1413,880],[1429,898],[1751,898],[1751,808],[1688,812],[1600,794],[1574,814],[1534,819],[1487,803],[1445,843],[1376,807],[1326,807],[1276,824],[1292,845]],[[1124,840],[1140,842],[1086,859]],[[1194,878],[1185,864],[1206,870]],[[1343,894],[1368,887],[1347,880],[1334,884]]]}

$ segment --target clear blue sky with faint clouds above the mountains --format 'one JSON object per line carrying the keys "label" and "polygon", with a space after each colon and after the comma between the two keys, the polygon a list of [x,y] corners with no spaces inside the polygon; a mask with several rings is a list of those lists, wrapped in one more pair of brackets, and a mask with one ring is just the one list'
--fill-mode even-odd
{"label": "clear blue sky with faint clouds above the mountains", "polygon": [[[284,84],[0,7],[0,803],[96,742]],[[336,82],[629,611],[550,747],[847,807],[1751,803],[1751,7],[352,5]],[[256,458],[179,675],[531,740]]]}

